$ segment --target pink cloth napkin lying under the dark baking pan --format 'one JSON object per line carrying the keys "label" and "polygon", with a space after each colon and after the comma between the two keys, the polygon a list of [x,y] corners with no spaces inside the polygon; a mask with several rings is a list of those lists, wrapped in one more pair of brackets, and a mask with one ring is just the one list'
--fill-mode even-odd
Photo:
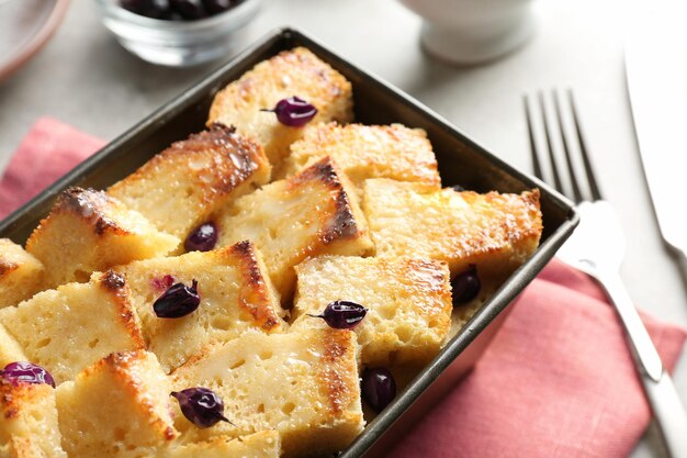
{"label": "pink cloth napkin lying under the dark baking pan", "polygon": [[[0,214],[101,145],[55,120],[40,120],[0,180]],[[598,286],[553,260],[513,306],[474,370],[390,457],[628,456],[650,410],[622,328]],[[685,331],[643,319],[672,368]]]}

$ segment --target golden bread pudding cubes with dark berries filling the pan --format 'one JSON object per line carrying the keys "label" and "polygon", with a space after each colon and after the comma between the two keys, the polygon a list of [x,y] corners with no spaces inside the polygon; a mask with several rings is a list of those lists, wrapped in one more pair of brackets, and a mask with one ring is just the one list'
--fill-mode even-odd
{"label": "golden bread pudding cubes with dark berries filling the pan", "polygon": [[[441,189],[297,47],[207,129],[0,241],[0,458],[328,457],[534,252],[538,190]],[[54,387],[57,388],[54,388]]]}

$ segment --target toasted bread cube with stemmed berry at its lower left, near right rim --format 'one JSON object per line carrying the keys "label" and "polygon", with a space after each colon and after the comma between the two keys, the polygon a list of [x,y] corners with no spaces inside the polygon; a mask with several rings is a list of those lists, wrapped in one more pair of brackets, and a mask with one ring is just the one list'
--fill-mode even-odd
{"label": "toasted bread cube with stemmed berry at its lower left, near right rim", "polygon": [[414,258],[322,256],[296,267],[292,331],[326,327],[328,303],[346,300],[368,309],[354,327],[363,365],[425,364],[451,327],[451,281],[443,261]]}

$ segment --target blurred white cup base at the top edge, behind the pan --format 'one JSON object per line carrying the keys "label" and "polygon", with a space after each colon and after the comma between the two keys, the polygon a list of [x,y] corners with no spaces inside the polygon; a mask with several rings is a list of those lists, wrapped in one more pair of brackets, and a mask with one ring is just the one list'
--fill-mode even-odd
{"label": "blurred white cup base at the top edge, behind the pan", "polygon": [[429,54],[475,65],[508,54],[533,31],[531,0],[398,0],[423,19]]}

